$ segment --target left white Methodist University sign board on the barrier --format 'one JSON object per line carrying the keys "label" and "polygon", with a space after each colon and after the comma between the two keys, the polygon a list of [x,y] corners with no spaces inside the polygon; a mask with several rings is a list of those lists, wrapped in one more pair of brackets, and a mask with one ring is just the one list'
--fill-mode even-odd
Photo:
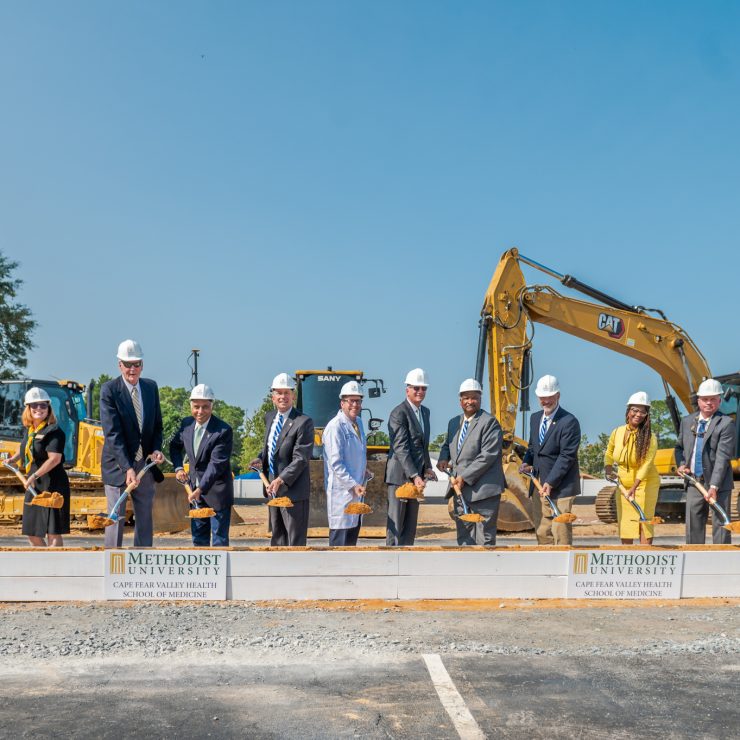
{"label": "left white Methodist University sign board on the barrier", "polygon": [[106,550],[106,599],[226,598],[225,550]]}

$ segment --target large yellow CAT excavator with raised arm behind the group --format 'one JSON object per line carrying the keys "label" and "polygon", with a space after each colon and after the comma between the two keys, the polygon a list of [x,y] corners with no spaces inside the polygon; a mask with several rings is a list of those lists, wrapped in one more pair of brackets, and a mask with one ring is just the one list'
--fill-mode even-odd
{"label": "large yellow CAT excavator with raised arm behind the group", "polygon": [[[551,285],[528,285],[521,265],[555,278],[567,288],[579,291],[596,302],[564,296]],[[725,390],[722,411],[737,418],[740,373],[712,376],[707,360],[691,337],[669,321],[659,309],[630,306],[571,275],[562,275],[529,259],[517,249],[505,252],[486,291],[479,322],[475,377],[483,382],[486,358],[489,368],[491,412],[504,433],[504,470],[508,489],[502,499],[499,527],[520,531],[532,527],[527,481],[518,473],[527,443],[515,433],[517,413],[523,412],[522,436],[528,436],[526,412],[532,383],[532,344],[536,324],[557,329],[632,357],[660,375],[668,410],[678,430],[680,412],[676,396],[687,410],[696,409],[696,390],[702,380],[716,377]],[[672,392],[672,390],[675,392]],[[736,439],[740,458],[740,430]],[[685,494],[676,475],[673,449],[659,450],[656,458],[661,473],[661,491],[656,513],[664,519],[683,516]],[[740,473],[740,460],[733,462]],[[737,487],[736,487],[737,488]],[[736,508],[737,490],[732,510]],[[614,488],[597,496],[596,511],[605,522],[616,521]]]}

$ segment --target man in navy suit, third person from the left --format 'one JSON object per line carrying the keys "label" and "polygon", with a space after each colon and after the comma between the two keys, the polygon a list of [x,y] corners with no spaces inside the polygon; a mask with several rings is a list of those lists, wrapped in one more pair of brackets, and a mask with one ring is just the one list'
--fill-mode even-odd
{"label": "man in navy suit, third person from the left", "polygon": [[[208,507],[216,513],[209,518],[190,520],[196,547],[229,546],[231,507],[234,505],[234,478],[231,475],[231,451],[234,434],[231,427],[213,414],[216,400],[211,388],[203,383],[190,393],[192,416],[182,420],[170,442],[170,457],[175,477],[187,483],[191,505]],[[189,471],[183,468],[187,455]],[[213,540],[211,540],[213,538]]]}

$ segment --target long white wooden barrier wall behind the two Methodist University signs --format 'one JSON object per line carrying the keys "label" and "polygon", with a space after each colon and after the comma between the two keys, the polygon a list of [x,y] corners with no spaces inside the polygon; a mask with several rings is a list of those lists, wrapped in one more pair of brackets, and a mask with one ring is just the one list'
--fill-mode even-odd
{"label": "long white wooden barrier wall behind the two Methodist University signs", "polygon": [[[666,551],[684,555],[683,598],[740,597],[738,548],[623,552]],[[569,577],[567,549],[226,552],[226,598],[250,601],[565,598]],[[102,600],[106,555],[103,550],[0,551],[0,601]]]}

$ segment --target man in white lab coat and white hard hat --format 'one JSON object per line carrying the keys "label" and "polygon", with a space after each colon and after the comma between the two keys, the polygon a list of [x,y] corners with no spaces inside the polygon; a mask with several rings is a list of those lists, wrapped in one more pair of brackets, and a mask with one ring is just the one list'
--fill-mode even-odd
{"label": "man in white lab coat and white hard hat", "polygon": [[344,510],[347,504],[359,502],[365,495],[368,477],[367,445],[360,419],[362,397],[356,380],[345,383],[339,391],[339,412],[324,428],[324,483],[331,547],[354,546],[360,534],[361,517],[345,514]]}

